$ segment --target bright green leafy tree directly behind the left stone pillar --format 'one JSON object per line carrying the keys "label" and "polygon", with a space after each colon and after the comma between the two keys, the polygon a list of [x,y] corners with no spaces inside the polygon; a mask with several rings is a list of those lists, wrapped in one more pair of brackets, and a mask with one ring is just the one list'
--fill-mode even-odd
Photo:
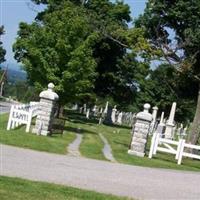
{"label": "bright green leafy tree directly behind the left stone pillar", "polygon": [[13,49],[31,83],[42,88],[54,82],[64,104],[91,95],[96,76],[95,38],[83,8],[66,2],[61,10],[45,14],[42,21],[20,23]]}

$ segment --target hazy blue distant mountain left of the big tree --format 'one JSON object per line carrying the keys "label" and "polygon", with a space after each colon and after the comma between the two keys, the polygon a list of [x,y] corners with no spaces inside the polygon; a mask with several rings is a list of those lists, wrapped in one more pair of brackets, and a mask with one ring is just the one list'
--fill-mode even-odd
{"label": "hazy blue distant mountain left of the big tree", "polygon": [[3,63],[0,65],[1,69],[6,69],[8,66],[8,81],[16,83],[17,81],[25,81],[27,78],[26,72],[22,70],[19,64],[15,63]]}

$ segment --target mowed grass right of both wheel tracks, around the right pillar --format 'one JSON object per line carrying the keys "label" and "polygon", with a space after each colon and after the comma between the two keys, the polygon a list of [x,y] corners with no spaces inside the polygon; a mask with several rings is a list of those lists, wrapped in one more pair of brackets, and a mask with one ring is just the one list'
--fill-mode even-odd
{"label": "mowed grass right of both wheel tracks, around the right pillar", "polygon": [[[175,155],[172,154],[157,153],[152,159],[149,159],[147,156],[140,158],[129,155],[127,151],[131,141],[131,129],[128,127],[115,126],[113,131],[113,127],[101,125],[98,127],[98,130],[107,138],[112,147],[114,157],[120,163],[155,168],[200,171],[199,160],[183,158],[182,164],[177,165],[177,160],[174,159]],[[151,138],[149,137],[146,149],[147,155],[150,149],[150,140]]]}

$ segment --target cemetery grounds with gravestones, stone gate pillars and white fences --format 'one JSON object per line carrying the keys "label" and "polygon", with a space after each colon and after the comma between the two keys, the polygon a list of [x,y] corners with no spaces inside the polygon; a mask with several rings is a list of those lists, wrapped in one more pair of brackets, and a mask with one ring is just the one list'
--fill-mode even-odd
{"label": "cemetery grounds with gravestones, stone gate pillars and white fences", "polygon": [[187,147],[197,150],[200,147],[185,143],[187,133],[179,130],[184,129],[183,125],[175,127],[176,103],[172,104],[166,123],[164,113],[158,123],[158,108],[153,107],[151,114],[149,104],[145,104],[144,111],[138,114],[117,111],[116,106],[109,111],[109,102],[104,108],[94,105],[93,112],[88,112],[86,104],[80,109],[75,105],[66,110],[64,127],[53,131],[58,96],[53,91],[53,84],[48,87],[40,93],[39,102],[11,106],[9,116],[3,115],[2,143],[111,162],[200,170],[199,155],[184,152]]}

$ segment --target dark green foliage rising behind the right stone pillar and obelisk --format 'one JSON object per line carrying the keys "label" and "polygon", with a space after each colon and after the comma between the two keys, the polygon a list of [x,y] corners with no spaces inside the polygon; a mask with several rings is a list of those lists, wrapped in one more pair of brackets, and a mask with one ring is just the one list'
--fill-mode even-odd
{"label": "dark green foliage rising behind the right stone pillar and obelisk", "polygon": [[187,74],[179,74],[173,66],[162,64],[152,70],[141,84],[137,105],[142,108],[143,102],[149,102],[152,106],[158,106],[159,114],[164,111],[168,115],[172,102],[177,102],[175,120],[188,122],[194,117],[194,96],[197,91],[198,85]]}

